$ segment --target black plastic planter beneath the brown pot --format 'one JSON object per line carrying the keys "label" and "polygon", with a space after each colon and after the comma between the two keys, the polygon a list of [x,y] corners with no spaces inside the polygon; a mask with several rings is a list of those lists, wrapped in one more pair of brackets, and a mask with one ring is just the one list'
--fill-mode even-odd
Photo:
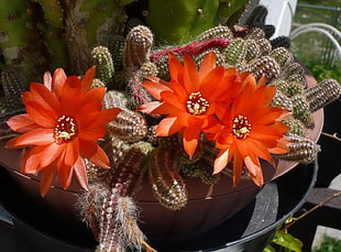
{"label": "black plastic planter beneath the brown pot", "polygon": [[[315,185],[317,171],[317,162],[308,166],[298,165],[264,186],[252,202],[209,232],[189,235],[186,240],[151,241],[151,244],[158,251],[172,252],[262,251],[278,227],[304,205]],[[4,168],[0,169],[0,202],[14,223],[3,224],[0,229],[8,235],[12,233],[10,239],[1,241],[4,243],[2,248],[9,248],[4,252],[18,251],[16,246],[21,252],[86,252],[96,248],[87,227],[80,222],[65,223],[51,212],[35,207]]]}

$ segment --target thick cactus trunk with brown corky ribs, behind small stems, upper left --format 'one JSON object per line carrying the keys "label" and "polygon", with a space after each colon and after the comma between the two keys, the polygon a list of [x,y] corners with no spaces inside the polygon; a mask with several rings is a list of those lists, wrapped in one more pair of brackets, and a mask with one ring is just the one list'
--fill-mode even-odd
{"label": "thick cactus trunk with brown corky ribs, behind small stems, upper left", "polygon": [[70,55],[70,73],[78,75],[89,67],[90,50],[108,46],[108,34],[118,32],[124,7],[117,1],[66,1],[65,40]]}

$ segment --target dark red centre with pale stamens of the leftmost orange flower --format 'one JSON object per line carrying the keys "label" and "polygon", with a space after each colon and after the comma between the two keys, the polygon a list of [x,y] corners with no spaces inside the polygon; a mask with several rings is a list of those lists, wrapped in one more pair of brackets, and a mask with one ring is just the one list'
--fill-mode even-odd
{"label": "dark red centre with pale stamens of the leftmost orange flower", "polygon": [[77,122],[74,118],[62,116],[55,127],[54,139],[58,144],[69,142],[78,133]]}

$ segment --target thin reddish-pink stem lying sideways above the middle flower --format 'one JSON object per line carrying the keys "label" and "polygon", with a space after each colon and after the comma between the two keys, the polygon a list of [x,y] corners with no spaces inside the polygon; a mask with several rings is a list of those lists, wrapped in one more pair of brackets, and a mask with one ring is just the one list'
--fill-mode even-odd
{"label": "thin reddish-pink stem lying sideways above the middle flower", "polygon": [[230,40],[226,37],[212,37],[207,41],[195,41],[179,47],[156,51],[151,54],[150,61],[157,63],[168,53],[174,53],[178,56],[198,55],[213,47],[227,47],[229,43]]}

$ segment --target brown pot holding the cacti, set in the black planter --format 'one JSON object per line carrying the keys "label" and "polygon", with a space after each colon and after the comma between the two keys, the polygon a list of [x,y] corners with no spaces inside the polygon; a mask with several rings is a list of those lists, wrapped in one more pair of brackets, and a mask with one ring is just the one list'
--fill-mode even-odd
{"label": "brown pot holding the cacti, set in the black planter", "polygon": [[[316,85],[311,76],[307,76],[308,86]],[[307,138],[317,141],[323,124],[323,111],[314,113],[315,127],[308,130]],[[22,150],[6,150],[0,142],[0,165],[6,167],[18,184],[28,191],[36,204],[46,210],[54,211],[57,218],[69,221],[70,224],[78,221],[78,213],[74,209],[77,194],[80,187],[75,182],[66,191],[55,184],[48,194],[40,196],[38,177],[19,173],[19,164]],[[279,160],[276,167],[267,162],[262,162],[265,183],[287,173],[297,163]],[[168,210],[161,206],[154,198],[151,186],[145,179],[142,189],[135,199],[141,209],[141,228],[148,238],[179,238],[210,230],[223,222],[232,215],[246,206],[260,188],[250,179],[243,179],[237,187],[232,187],[229,176],[222,176],[215,186],[205,185],[199,179],[187,180],[188,204],[180,210]]]}

